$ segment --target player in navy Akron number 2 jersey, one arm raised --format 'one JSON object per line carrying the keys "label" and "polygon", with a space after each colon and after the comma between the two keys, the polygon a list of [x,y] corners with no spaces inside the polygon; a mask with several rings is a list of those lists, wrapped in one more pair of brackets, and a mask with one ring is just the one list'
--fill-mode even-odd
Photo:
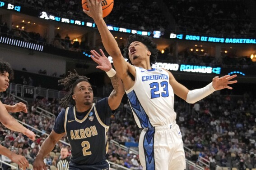
{"label": "player in navy Akron number 2 jersey, one arm raised", "polygon": [[54,148],[55,144],[65,135],[70,142],[71,158],[69,170],[108,170],[106,161],[108,149],[107,130],[110,116],[120,105],[125,93],[121,79],[116,76],[111,63],[102,50],[100,56],[93,52],[93,60],[99,64],[97,68],[107,72],[112,81],[114,90],[107,98],[93,103],[93,89],[86,76],[79,76],[70,72],[69,76],[60,80],[60,85],[70,89],[69,93],[61,99],[61,106],[66,108],[56,118],[50,136],[42,143],[36,160],[34,170],[46,170],[43,158]]}

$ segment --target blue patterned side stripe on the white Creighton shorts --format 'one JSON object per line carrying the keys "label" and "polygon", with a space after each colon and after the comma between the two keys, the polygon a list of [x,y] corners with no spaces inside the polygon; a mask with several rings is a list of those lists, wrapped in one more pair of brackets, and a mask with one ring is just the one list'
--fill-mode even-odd
{"label": "blue patterned side stripe on the white Creighton shorts", "polygon": [[155,128],[149,128],[144,136],[143,149],[146,161],[146,170],[155,170],[154,159],[154,134]]}

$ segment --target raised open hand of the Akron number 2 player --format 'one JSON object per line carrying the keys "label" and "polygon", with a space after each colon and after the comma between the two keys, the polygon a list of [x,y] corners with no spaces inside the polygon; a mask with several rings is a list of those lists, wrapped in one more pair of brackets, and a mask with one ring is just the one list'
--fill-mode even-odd
{"label": "raised open hand of the Akron number 2 player", "polygon": [[93,61],[95,63],[98,64],[98,66],[96,68],[99,68],[105,72],[108,72],[112,68],[110,61],[105,56],[102,49],[100,49],[101,55],[98,54],[97,51],[95,51],[95,50],[91,50],[91,53],[93,54],[93,55],[91,55],[91,58],[93,59]]}

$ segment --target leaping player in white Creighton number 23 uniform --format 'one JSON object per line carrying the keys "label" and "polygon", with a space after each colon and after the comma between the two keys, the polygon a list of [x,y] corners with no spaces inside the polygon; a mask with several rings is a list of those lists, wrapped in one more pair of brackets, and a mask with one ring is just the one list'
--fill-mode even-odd
{"label": "leaping player in white Creighton number 23 uniform", "polygon": [[182,135],[175,122],[173,95],[195,103],[215,90],[232,89],[229,85],[237,81],[230,80],[236,75],[214,77],[212,83],[204,88],[189,90],[178,83],[171,72],[151,67],[157,59],[157,45],[149,37],[141,35],[132,35],[127,40],[124,54],[127,63],[102,18],[102,0],[87,2],[90,9],[84,13],[96,23],[102,43],[123,81],[136,123],[144,128],[139,142],[143,169],[184,170],[186,160]]}

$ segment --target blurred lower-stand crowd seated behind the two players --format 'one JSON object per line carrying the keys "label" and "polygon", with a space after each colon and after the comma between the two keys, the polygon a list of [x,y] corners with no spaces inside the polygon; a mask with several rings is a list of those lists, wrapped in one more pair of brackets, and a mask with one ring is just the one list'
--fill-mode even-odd
{"label": "blurred lower-stand crowd seated behind the two players", "polygon": [[[0,99],[5,104],[12,105],[18,102],[6,94],[2,94]],[[58,101],[55,99],[49,101],[37,98],[28,104],[28,114],[13,113],[19,121],[41,130],[38,132],[28,127],[37,134],[35,141],[28,140],[26,136],[0,125],[1,144],[25,156],[31,164],[47,137],[46,134],[50,134],[54,125],[54,117],[49,118],[44,116],[44,112],[36,112],[36,107],[41,107],[56,116],[64,109],[58,107]],[[195,104],[188,104],[177,98],[174,107],[184,146],[190,150],[186,152],[188,160],[199,163],[203,157],[210,162],[210,170],[214,170],[216,165],[237,167],[239,170],[256,168],[256,98],[251,93],[245,92],[242,96],[237,96],[220,95],[216,92]],[[135,124],[130,112],[130,106],[124,99],[111,117],[108,139],[122,145],[138,144],[140,132],[141,129]],[[68,143],[66,136],[61,140]],[[53,152],[59,153],[63,146],[65,144],[59,142]],[[50,167],[56,166],[54,160],[57,161],[60,157],[49,155],[46,159],[46,164]],[[137,154],[121,149],[114,143],[109,145],[107,159],[130,169],[142,168]],[[2,160],[10,161],[3,156]]]}

